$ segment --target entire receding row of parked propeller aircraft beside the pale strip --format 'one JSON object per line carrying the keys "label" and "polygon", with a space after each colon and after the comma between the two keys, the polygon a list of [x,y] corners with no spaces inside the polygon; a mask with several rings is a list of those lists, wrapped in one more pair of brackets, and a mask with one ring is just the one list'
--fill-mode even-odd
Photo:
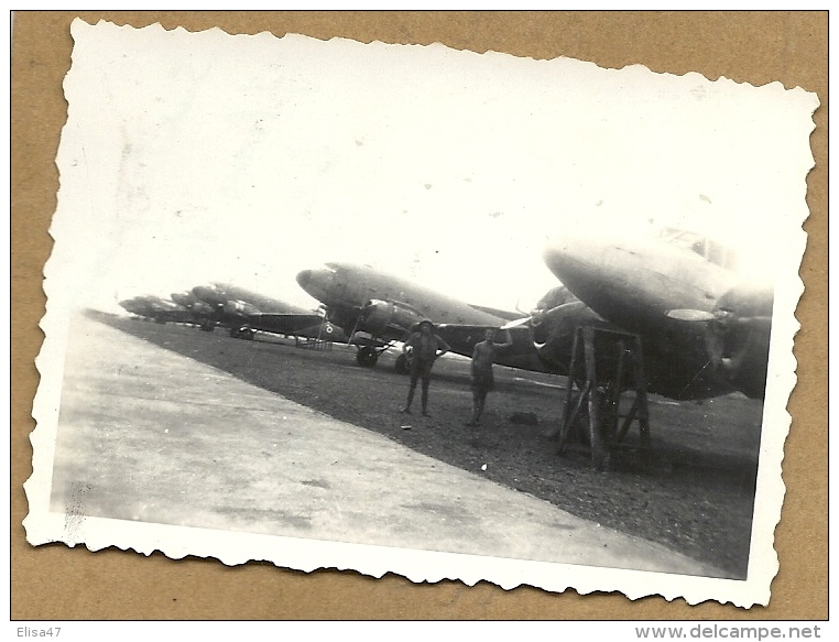
{"label": "entire receding row of parked propeller aircraft beside the pale strip", "polygon": [[[225,325],[233,336],[264,330],[349,341],[367,367],[428,318],[454,352],[470,356],[487,328],[504,328],[512,345],[498,352],[499,363],[568,374],[576,329],[593,324],[641,338],[650,392],[679,400],[733,391],[764,395],[773,289],[741,284],[723,246],[674,229],[644,240],[568,236],[551,244],[544,260],[560,285],[530,315],[470,305],[339,262],[297,274],[301,287],[323,304],[318,312],[219,284],[173,295],[171,303],[203,327]],[[123,307],[135,312],[138,301]],[[161,301],[148,304],[146,316],[177,320]],[[396,369],[406,369],[404,357]]]}

